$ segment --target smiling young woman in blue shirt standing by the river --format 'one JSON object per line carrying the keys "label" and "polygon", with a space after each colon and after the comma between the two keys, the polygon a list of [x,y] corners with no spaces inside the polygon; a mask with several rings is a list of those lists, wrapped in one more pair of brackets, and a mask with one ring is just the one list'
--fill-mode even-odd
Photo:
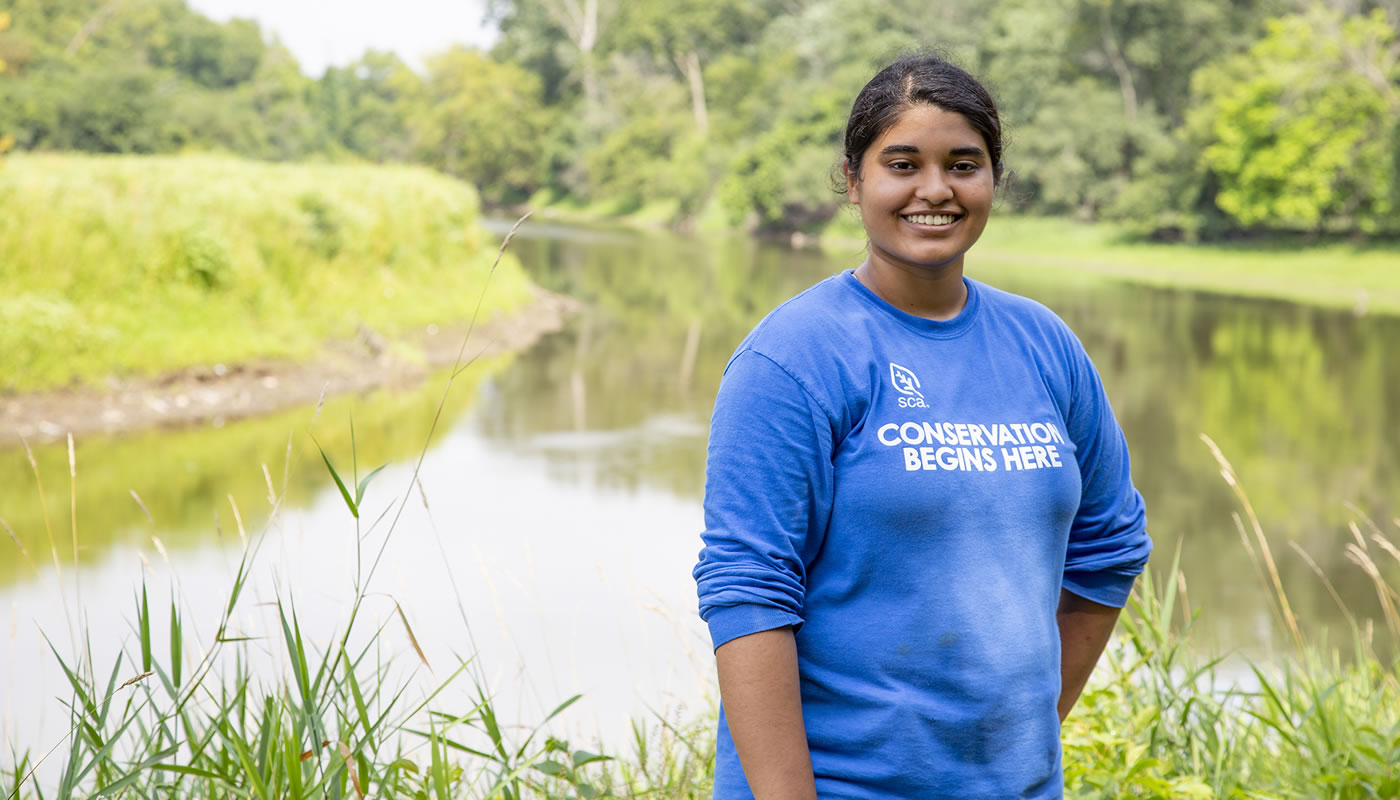
{"label": "smiling young woman in blue shirt standing by the river", "polygon": [[1123,433],[1064,322],[963,276],[987,90],[900,59],[844,150],[869,256],[769,314],[715,399],[714,796],[1061,797],[1060,722],[1151,551]]}

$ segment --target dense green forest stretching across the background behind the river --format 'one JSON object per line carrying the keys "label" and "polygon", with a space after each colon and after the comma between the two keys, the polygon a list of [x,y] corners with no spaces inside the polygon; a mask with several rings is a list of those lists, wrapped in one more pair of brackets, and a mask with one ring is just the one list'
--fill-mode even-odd
{"label": "dense green forest stretching across the background behind the river", "polygon": [[[3,0],[18,150],[419,163],[496,205],[820,230],[846,112],[934,46],[1007,122],[1004,207],[1158,238],[1400,234],[1400,0],[491,0],[501,36],[321,77],[185,0]],[[3,22],[0,22],[3,27]]]}

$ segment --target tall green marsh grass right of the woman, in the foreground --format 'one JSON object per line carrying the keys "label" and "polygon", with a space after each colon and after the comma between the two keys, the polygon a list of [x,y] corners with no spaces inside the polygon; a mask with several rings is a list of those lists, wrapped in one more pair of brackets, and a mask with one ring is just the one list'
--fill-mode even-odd
{"label": "tall green marsh grass right of the woman, in the foreground", "polygon": [[[1393,644],[1378,651],[1375,622],[1359,621],[1344,605],[1351,623],[1345,653],[1309,635],[1278,579],[1240,476],[1215,443],[1203,439],[1239,500],[1240,542],[1260,587],[1271,594],[1274,626],[1288,649],[1268,664],[1231,654],[1203,657],[1190,642],[1200,612],[1191,609],[1179,560],[1158,577],[1145,573],[1120,636],[1065,722],[1070,796],[1400,797],[1400,658]],[[1378,524],[1358,517],[1348,556],[1382,598],[1382,623],[1400,632],[1396,584],[1375,560],[1382,553],[1394,558],[1389,574],[1396,574],[1400,552]],[[1400,520],[1394,527],[1392,535],[1400,532]],[[1341,604],[1312,558],[1301,549],[1298,555]]]}

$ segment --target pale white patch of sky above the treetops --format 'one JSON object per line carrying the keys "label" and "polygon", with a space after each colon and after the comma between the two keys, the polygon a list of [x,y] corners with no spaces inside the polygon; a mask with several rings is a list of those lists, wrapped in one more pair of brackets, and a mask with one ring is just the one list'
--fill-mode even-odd
{"label": "pale white patch of sky above the treetops", "polygon": [[356,60],[367,49],[393,50],[410,67],[455,43],[489,46],[496,31],[482,17],[484,0],[189,0],[218,21],[256,20],[297,56],[301,71],[321,77],[328,66]]}

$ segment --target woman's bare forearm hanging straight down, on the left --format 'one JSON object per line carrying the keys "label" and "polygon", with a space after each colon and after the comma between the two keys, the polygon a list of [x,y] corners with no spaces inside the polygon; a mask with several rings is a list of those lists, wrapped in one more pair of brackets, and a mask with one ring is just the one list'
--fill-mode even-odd
{"label": "woman's bare forearm hanging straight down, on the left", "polygon": [[732,639],[714,658],[729,736],[755,799],[816,800],[792,629]]}

